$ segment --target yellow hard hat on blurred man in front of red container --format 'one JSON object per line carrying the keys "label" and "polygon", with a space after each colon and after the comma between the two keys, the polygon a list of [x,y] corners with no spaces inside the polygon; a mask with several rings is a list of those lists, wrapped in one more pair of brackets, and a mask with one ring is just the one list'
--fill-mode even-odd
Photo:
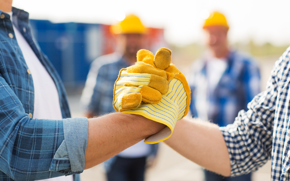
{"label": "yellow hard hat on blurred man in front of red container", "polygon": [[110,26],[110,31],[114,34],[125,33],[145,33],[146,28],[140,19],[134,14],[127,15],[123,21]]}

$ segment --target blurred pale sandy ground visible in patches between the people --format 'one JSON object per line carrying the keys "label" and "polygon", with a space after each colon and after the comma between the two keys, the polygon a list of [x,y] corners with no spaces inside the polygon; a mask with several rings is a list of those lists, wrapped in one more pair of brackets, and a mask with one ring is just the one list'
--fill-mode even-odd
{"label": "blurred pale sandy ground visible in patches between the people", "polygon": [[[281,53],[282,54],[282,53]],[[280,55],[281,55],[280,54]],[[280,55],[271,55],[256,58],[261,68],[261,90],[266,87],[274,62]],[[177,58],[178,57],[178,58]],[[180,60],[183,61],[180,61]],[[172,58],[176,66],[184,73],[189,72],[189,63],[192,59],[186,56],[175,56]],[[82,117],[83,112],[79,108],[81,88],[67,90],[72,117]],[[169,159],[170,158],[170,159]],[[253,174],[253,181],[270,181],[271,160]],[[82,181],[105,181],[102,165],[97,165],[81,173]],[[156,164],[146,172],[146,181],[203,181],[202,168],[197,164],[187,160],[165,144],[160,144]]]}

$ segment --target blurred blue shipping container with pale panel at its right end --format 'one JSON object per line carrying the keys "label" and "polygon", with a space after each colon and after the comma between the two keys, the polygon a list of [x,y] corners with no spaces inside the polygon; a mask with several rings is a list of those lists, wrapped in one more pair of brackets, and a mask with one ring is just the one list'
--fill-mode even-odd
{"label": "blurred blue shipping container with pale panel at its right end", "polygon": [[90,63],[101,55],[99,24],[30,20],[32,32],[65,84],[86,81]]}

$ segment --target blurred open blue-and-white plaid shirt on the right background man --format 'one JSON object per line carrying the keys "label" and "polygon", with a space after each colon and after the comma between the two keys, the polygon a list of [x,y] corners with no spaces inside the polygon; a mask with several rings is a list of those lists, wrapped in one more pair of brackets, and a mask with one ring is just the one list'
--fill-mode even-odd
{"label": "blurred open blue-and-white plaid shirt on the right background man", "polygon": [[191,87],[190,111],[193,117],[220,126],[233,123],[238,112],[260,93],[260,72],[254,61],[238,52],[230,52],[220,81],[210,91],[207,59],[193,64],[189,85]]}

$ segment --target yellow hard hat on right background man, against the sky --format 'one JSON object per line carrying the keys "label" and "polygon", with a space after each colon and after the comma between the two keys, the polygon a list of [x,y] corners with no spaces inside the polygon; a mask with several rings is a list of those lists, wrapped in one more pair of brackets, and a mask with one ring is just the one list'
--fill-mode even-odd
{"label": "yellow hard hat on right background man, against the sky", "polygon": [[205,29],[208,26],[224,26],[229,29],[228,23],[226,23],[226,17],[220,12],[212,12],[209,17],[204,21],[203,29]]}

